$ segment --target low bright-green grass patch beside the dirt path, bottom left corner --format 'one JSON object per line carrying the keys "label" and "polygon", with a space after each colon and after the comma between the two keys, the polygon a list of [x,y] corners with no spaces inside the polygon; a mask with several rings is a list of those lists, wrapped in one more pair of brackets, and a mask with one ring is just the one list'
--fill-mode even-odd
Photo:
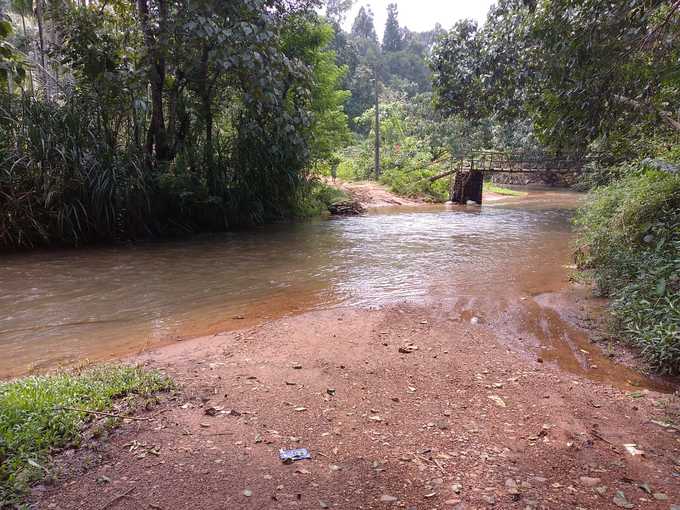
{"label": "low bright-green grass patch beside the dirt path, bottom left corner", "polygon": [[[172,387],[159,372],[123,365],[0,383],[0,508],[20,504],[31,484],[49,474],[51,453],[82,440],[93,415],[63,407],[125,414],[139,397]],[[119,420],[104,421],[112,427]]]}

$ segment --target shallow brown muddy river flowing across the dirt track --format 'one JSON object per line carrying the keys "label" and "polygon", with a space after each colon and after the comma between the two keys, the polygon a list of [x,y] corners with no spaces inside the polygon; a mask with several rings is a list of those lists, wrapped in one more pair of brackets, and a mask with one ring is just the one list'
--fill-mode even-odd
{"label": "shallow brown muddy river flowing across the dirt track", "polygon": [[[579,195],[397,209],[0,261],[0,377],[327,306],[491,296],[567,282]],[[526,298],[524,298],[526,299]]]}

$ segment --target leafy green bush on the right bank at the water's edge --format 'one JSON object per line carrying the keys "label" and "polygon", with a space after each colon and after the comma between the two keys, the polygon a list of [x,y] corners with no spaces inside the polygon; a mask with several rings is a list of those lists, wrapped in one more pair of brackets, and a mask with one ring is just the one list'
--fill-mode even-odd
{"label": "leafy green bush on the right bank at the water's edge", "polygon": [[596,188],[576,218],[580,260],[611,297],[616,332],[680,372],[680,175],[644,165]]}

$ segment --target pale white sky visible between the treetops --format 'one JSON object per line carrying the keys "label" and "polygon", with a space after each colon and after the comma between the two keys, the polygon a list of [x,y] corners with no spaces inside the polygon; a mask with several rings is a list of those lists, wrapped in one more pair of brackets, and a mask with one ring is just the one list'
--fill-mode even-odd
{"label": "pale white sky visible between the treetops", "polygon": [[414,32],[434,28],[439,22],[444,28],[460,19],[472,18],[481,25],[494,0],[357,0],[345,21],[345,29],[352,28],[354,17],[362,5],[370,4],[375,15],[375,30],[382,39],[387,19],[387,4],[395,2],[399,9],[399,25]]}

